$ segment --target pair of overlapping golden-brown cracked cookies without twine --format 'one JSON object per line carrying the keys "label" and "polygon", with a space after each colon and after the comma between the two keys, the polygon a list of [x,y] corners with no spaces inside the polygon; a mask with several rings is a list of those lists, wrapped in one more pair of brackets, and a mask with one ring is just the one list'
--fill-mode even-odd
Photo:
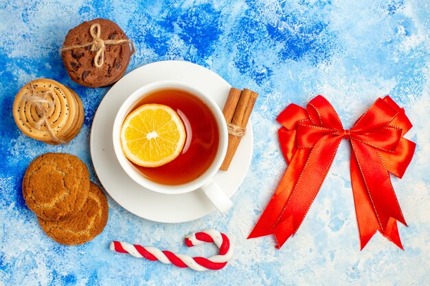
{"label": "pair of overlapping golden-brown cracked cookies without twine", "polygon": [[23,197],[45,233],[58,243],[86,243],[106,226],[106,196],[90,182],[87,165],[71,154],[47,153],[34,159],[25,171]]}

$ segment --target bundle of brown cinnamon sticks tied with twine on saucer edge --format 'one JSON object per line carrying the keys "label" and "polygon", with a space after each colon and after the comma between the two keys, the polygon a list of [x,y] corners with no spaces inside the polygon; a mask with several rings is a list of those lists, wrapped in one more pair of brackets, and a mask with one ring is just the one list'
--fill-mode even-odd
{"label": "bundle of brown cinnamon sticks tied with twine on saucer edge", "polygon": [[[229,144],[227,147],[227,154],[225,155],[223,165],[221,165],[221,171],[227,171],[230,166],[231,160],[238,149],[238,145],[240,143],[240,139],[242,139],[243,132],[247,127],[247,123],[249,121],[249,117],[251,116],[251,112],[253,110],[254,104],[256,104],[256,100],[258,97],[258,93],[255,93],[247,88],[245,88],[240,94],[240,98],[237,101],[237,105],[234,108],[234,115],[231,117],[231,105],[236,102],[235,99],[230,99],[231,97],[237,96],[237,88],[234,88],[235,91],[232,91],[231,88],[229,97],[227,98],[226,106],[224,106],[224,110],[228,110],[229,112],[223,112],[224,117],[227,122],[227,126],[229,126]],[[234,93],[234,95],[232,95]],[[230,99],[230,100],[229,100]],[[227,106],[229,104],[229,106]],[[231,122],[228,120],[231,118]],[[231,130],[239,130],[239,132],[231,132]],[[232,134],[233,133],[233,134]]]}

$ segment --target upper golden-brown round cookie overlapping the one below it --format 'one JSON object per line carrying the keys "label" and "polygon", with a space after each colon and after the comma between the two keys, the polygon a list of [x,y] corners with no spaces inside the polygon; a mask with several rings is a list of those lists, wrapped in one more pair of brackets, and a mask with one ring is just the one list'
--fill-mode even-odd
{"label": "upper golden-brown round cookie overlapping the one below it", "polygon": [[25,203],[43,219],[58,220],[76,214],[87,202],[88,193],[87,165],[71,154],[43,154],[25,171]]}

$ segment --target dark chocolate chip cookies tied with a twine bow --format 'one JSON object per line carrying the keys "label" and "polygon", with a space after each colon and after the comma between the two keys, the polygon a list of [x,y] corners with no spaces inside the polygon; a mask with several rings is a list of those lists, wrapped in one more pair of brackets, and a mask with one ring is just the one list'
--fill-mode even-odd
{"label": "dark chocolate chip cookies tied with a twine bow", "polygon": [[116,23],[98,18],[67,33],[61,58],[71,80],[99,87],[122,78],[133,52],[133,43]]}

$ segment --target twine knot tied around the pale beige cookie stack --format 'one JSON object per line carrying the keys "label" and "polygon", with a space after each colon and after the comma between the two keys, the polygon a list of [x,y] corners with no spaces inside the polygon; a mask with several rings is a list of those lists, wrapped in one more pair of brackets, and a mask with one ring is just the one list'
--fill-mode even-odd
{"label": "twine knot tied around the pale beige cookie stack", "polygon": [[48,121],[48,114],[51,112],[51,109],[54,108],[55,103],[54,100],[48,100],[46,97],[54,97],[52,91],[36,91],[33,84],[30,84],[30,86],[32,87],[32,94],[28,95],[25,93],[21,100],[25,100],[36,106],[36,112],[40,119],[36,122],[36,126],[34,127],[40,131],[42,124],[45,123],[46,129],[48,130],[49,135],[52,137],[52,140],[57,143],[63,143],[64,141],[58,139],[58,137],[55,135],[54,130],[52,130],[51,124],[49,124]]}

